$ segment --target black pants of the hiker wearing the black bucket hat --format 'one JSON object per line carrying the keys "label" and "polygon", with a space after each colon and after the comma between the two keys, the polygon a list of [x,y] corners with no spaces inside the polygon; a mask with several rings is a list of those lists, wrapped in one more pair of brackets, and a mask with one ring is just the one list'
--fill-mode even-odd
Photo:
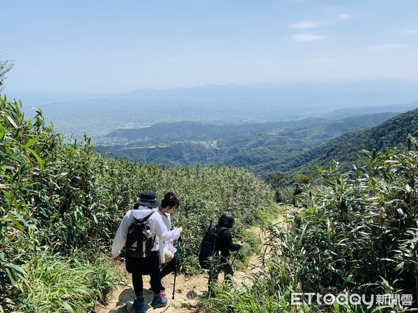
{"label": "black pants of the hiker wearing the black bucket hat", "polygon": [[144,257],[144,259],[127,258],[126,261],[127,265],[129,264],[129,272],[132,273],[135,296],[142,296],[144,292],[142,275],[150,275],[151,288],[155,294],[160,292],[160,254],[158,251],[153,251],[152,255]]}

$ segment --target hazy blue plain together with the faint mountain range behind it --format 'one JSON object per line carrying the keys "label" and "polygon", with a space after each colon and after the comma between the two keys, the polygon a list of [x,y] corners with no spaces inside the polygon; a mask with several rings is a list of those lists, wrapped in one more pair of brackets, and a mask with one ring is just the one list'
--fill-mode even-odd
{"label": "hazy blue plain together with the faint mountain range behind it", "polygon": [[[54,102],[40,108],[66,136],[83,138],[86,133],[93,143],[107,145],[114,143],[106,136],[111,131],[158,122],[237,125],[309,117],[340,120],[366,113],[405,112],[418,106],[418,102],[411,102],[417,99],[416,84],[401,81],[265,83],[138,89],[98,99]],[[25,108],[25,112],[33,110]]]}

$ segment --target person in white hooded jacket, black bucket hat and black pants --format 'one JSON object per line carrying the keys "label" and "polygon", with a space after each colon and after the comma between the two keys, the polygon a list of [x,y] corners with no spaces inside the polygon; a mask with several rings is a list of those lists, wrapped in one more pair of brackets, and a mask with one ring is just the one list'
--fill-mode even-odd
{"label": "person in white hooded jacket, black bucket hat and black pants", "polygon": [[116,259],[120,255],[125,243],[127,243],[127,233],[130,225],[135,220],[146,220],[146,223],[148,223],[149,238],[153,240],[153,248],[150,250],[150,255],[145,257],[126,257],[126,270],[132,273],[132,284],[134,285],[135,296],[137,297],[134,300],[134,310],[137,312],[145,312],[142,275],[150,275],[150,284],[154,291],[151,306],[163,307],[167,304],[167,297],[160,290],[160,247],[156,238],[164,241],[173,241],[178,239],[183,232],[182,227],[175,228],[171,231],[167,230],[160,214],[154,214],[156,212],[153,211],[153,209],[160,207],[160,205],[161,201],[157,199],[154,191],[143,191],[137,203],[134,204],[134,208],[127,211],[123,217],[112,244],[112,256]]}

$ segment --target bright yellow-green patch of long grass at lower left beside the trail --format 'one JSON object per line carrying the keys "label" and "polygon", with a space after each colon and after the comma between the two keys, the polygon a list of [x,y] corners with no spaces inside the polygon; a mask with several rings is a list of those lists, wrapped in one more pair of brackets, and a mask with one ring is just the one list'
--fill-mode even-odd
{"label": "bright yellow-green patch of long grass at lower left beside the trail", "polygon": [[29,292],[16,312],[88,312],[103,303],[116,280],[109,259],[40,255],[24,264]]}

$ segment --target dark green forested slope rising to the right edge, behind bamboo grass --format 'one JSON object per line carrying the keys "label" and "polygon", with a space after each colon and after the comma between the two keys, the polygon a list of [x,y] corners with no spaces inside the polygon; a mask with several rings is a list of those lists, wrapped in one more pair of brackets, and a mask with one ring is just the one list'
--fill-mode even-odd
{"label": "dark green forested slope rising to the right edge, behind bamboo grass", "polygon": [[258,170],[297,172],[309,166],[330,166],[333,160],[348,169],[350,164],[357,163],[362,150],[382,151],[389,147],[403,150],[408,134],[418,136],[418,109],[398,114],[375,127],[348,132],[295,157],[266,163]]}

